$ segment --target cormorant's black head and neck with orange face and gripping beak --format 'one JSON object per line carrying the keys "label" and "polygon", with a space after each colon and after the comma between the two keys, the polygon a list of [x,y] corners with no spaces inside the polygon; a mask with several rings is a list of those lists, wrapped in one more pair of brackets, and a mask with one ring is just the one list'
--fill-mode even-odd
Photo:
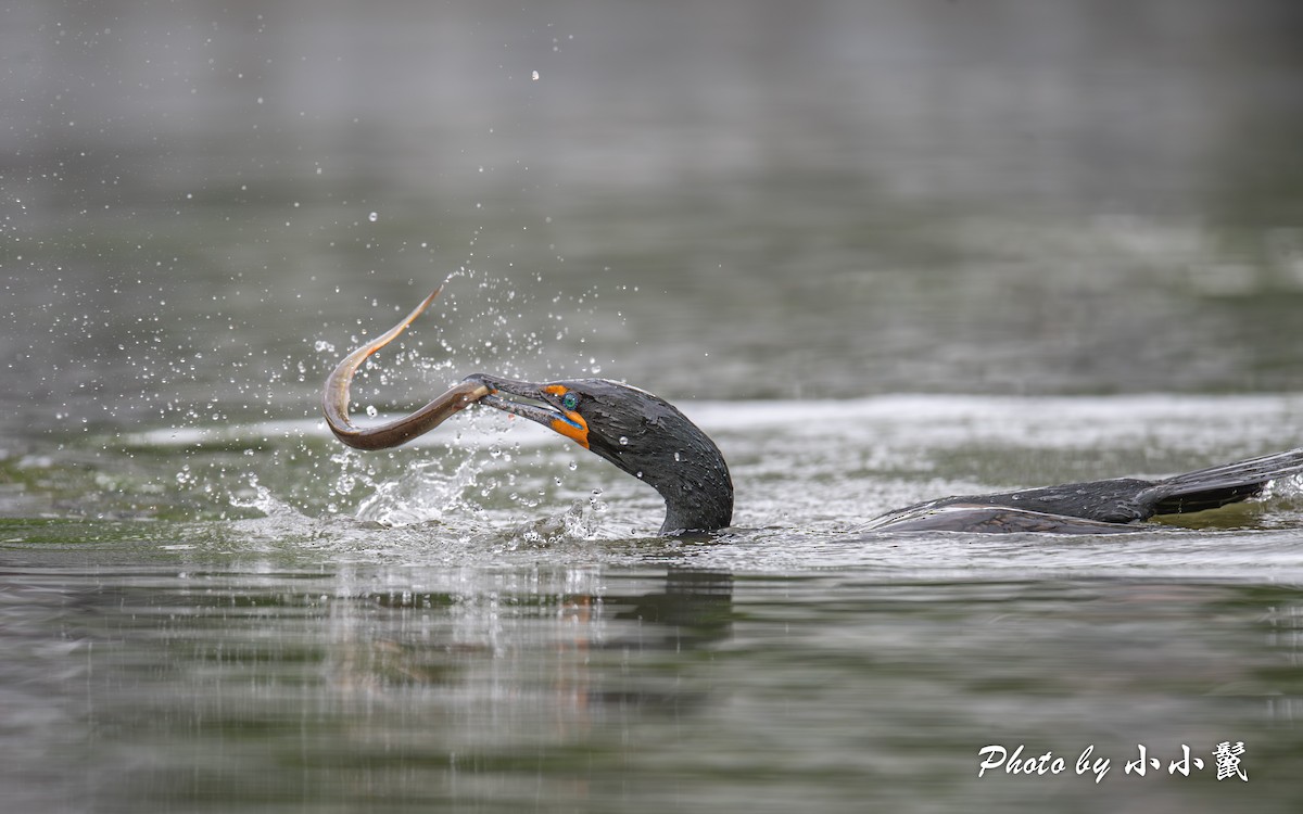
{"label": "cormorant's black head and neck with orange face and gripping beak", "polygon": [[480,404],[536,421],[599,455],[665,498],[662,534],[732,522],[732,481],[719,448],[668,401],[606,379],[516,382],[485,374]]}

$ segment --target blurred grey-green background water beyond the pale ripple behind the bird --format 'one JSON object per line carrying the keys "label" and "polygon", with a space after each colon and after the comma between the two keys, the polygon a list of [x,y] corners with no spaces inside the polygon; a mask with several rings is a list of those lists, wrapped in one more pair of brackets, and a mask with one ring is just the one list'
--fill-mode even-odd
{"label": "blurred grey-green background water beyond the pale ripple behind the bird", "polygon": [[21,432],[311,414],[459,268],[395,405],[480,367],[676,399],[1303,382],[1290,0],[0,17]]}

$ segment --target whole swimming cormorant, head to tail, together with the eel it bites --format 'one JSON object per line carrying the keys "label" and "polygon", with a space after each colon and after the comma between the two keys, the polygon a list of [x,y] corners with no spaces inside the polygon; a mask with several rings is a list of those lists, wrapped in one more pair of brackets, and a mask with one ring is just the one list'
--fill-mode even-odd
{"label": "whole swimming cormorant, head to tail, together with the eel it bites", "polygon": [[[732,522],[732,481],[719,448],[672,404],[628,384],[606,379],[532,383],[474,374],[410,415],[369,428],[354,427],[348,419],[353,372],[401,333],[438,293],[345,357],[326,380],[326,423],[341,442],[358,449],[397,447],[453,413],[481,404],[538,422],[654,487],[666,505],[661,534],[715,531]],[[1303,448],[1160,481],[1118,478],[942,498],[889,512],[865,530],[1136,531],[1136,521],[1244,500],[1272,481],[1299,473]]]}

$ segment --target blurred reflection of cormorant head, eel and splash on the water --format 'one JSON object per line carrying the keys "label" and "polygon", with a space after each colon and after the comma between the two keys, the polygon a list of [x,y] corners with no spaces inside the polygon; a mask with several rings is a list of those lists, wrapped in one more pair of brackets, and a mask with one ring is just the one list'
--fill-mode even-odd
{"label": "blurred reflection of cormorant head, eel and splash on the water", "polygon": [[645,593],[602,590],[601,572],[584,569],[563,580],[579,591],[499,589],[485,576],[487,583],[466,593],[392,591],[339,603],[332,682],[380,698],[430,692],[494,718],[533,703],[552,710],[559,736],[599,711],[679,714],[708,702],[700,690],[622,664],[727,639],[730,573],[670,568],[659,590]]}

